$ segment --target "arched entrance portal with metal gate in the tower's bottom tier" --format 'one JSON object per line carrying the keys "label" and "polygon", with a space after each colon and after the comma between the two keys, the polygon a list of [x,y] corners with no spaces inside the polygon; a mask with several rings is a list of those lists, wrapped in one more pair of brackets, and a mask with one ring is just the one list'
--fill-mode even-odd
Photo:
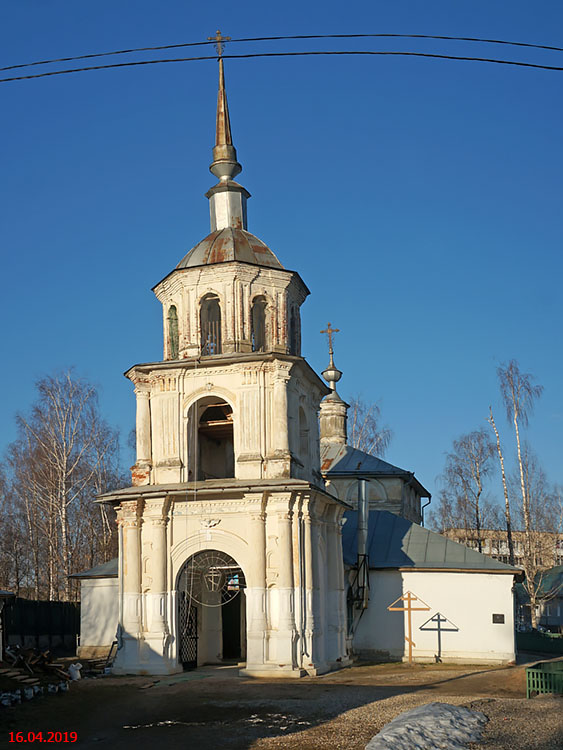
{"label": "arched entrance portal with metal gate in the tower's bottom tier", "polygon": [[178,576],[178,661],[184,669],[246,658],[246,581],[218,550],[192,555]]}

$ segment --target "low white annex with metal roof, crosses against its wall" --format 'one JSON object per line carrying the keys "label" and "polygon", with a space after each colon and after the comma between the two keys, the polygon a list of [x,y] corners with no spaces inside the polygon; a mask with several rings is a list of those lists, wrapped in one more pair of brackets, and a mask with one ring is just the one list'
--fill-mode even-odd
{"label": "low white annex with metal roof, crosses against its wall", "polygon": [[[353,594],[358,513],[348,511],[345,518],[344,564]],[[515,568],[388,511],[369,513],[366,553],[367,608],[355,608],[357,597],[349,596],[356,654],[407,658],[408,615],[390,611],[389,606],[408,606],[401,598],[410,592],[415,597],[411,614],[414,661],[514,661]]]}

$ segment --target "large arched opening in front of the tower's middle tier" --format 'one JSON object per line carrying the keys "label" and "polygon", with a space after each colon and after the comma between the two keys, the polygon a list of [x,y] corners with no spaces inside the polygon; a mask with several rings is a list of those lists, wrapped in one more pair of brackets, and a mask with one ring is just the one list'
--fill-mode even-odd
{"label": "large arched opening in front of the tower's middle tier", "polygon": [[190,407],[188,454],[190,481],[234,478],[233,409],[230,404],[217,396],[206,396]]}

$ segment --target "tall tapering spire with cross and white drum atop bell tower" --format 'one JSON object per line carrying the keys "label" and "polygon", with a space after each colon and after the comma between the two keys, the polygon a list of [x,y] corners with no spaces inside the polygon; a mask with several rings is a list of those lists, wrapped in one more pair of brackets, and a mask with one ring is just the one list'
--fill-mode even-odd
{"label": "tall tapering spire with cross and white drum atop bell tower", "polygon": [[234,182],[234,178],[242,171],[242,167],[237,160],[237,151],[233,146],[223,66],[223,43],[230,37],[221,36],[221,32],[217,31],[217,34],[209,39],[216,41],[219,59],[215,146],[213,161],[209,167],[210,172],[219,178],[219,182],[206,193],[206,197],[209,198],[211,231],[215,232],[229,227],[246,229],[246,200],[250,198],[250,193],[242,185]]}

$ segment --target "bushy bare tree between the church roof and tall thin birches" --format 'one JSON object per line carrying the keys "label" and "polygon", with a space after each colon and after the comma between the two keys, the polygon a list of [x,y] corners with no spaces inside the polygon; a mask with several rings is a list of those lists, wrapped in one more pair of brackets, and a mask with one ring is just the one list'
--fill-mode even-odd
{"label": "bushy bare tree between the church roof and tall thin birches", "polygon": [[482,495],[484,481],[493,468],[493,453],[494,445],[484,429],[462,435],[446,454],[442,475],[444,501],[452,510],[457,508],[458,518],[464,517],[464,528],[475,529],[479,552],[482,552]]}

